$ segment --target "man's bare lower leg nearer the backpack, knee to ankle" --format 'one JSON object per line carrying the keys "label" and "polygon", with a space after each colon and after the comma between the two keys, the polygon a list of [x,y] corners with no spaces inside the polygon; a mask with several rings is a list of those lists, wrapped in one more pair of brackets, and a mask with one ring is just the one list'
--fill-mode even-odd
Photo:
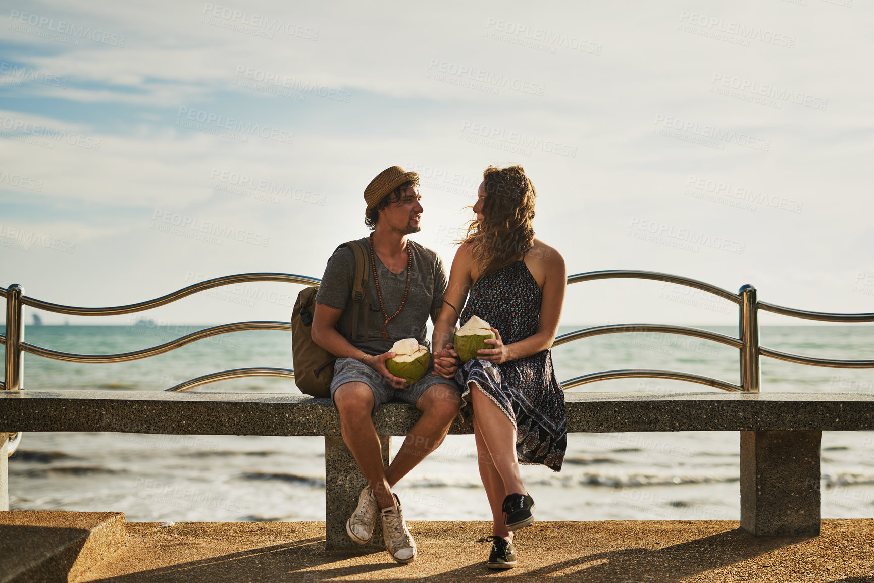
{"label": "man's bare lower leg nearer the backpack, knee to ankle", "polygon": [[371,419],[373,402],[371,387],[357,381],[343,383],[334,392],[343,441],[373,489],[379,508],[389,508],[394,506],[394,497],[392,487],[385,479],[382,447]]}

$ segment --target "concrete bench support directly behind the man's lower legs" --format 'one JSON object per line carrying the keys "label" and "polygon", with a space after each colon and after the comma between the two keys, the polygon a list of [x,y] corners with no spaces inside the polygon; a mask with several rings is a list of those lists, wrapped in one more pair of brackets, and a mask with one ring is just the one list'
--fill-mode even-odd
{"label": "concrete bench support directly behind the man's lower legs", "polygon": [[[392,448],[392,436],[380,435],[383,465],[388,466],[388,455]],[[358,505],[358,495],[367,485],[364,475],[358,469],[355,457],[342,437],[325,437],[325,545],[329,551],[366,549],[372,552],[374,546],[385,549],[382,541],[382,526],[377,520],[373,538],[369,545],[357,545],[346,534],[346,521]]]}

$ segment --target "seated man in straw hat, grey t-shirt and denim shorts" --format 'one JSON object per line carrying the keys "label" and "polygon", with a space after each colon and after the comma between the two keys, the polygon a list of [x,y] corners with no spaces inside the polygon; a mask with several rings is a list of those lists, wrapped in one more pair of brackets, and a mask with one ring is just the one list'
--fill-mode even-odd
{"label": "seated man in straw hat, grey t-shirt and denim shorts", "polygon": [[[346,532],[364,545],[379,515],[385,548],[399,563],[415,559],[416,544],[392,486],[440,445],[461,404],[460,387],[454,380],[428,371],[418,382],[406,385],[405,379],[385,368],[385,361],[395,356],[389,351],[395,341],[415,338],[419,344],[430,345],[427,318],[436,321],[447,286],[440,255],[406,239],[421,229],[420,199],[416,172],[392,166],[371,181],[364,191],[364,224],[372,233],[360,239],[370,252],[371,264],[365,321],[350,322],[355,256],[343,246],[325,267],[312,324],[316,344],[337,357],[331,399],[340,414],[343,441],[368,484],[358,496]],[[357,326],[358,331],[357,340],[351,342],[345,337],[350,326]],[[434,357],[451,359],[453,355],[449,350],[436,350]],[[384,468],[371,414],[392,399],[414,404],[422,416],[391,465]]]}

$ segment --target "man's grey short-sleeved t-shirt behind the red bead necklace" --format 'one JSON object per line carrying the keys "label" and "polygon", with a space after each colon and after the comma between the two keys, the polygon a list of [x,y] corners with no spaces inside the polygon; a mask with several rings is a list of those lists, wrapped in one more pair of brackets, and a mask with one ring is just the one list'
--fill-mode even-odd
{"label": "man's grey short-sleeved t-shirt behind the red bead necklace", "polygon": [[[369,249],[367,239],[358,239]],[[377,287],[373,281],[373,270],[370,269],[368,286],[370,297],[361,304],[361,309],[367,310],[367,326],[364,318],[358,316],[357,340],[350,341],[357,349],[367,354],[378,355],[392,350],[392,344],[404,338],[415,338],[419,344],[431,348],[431,342],[426,337],[425,324],[432,310],[439,310],[443,304],[443,294],[446,293],[446,270],[440,255],[418,243],[407,240],[407,248],[413,255],[413,269],[410,276],[410,292],[406,297],[404,309],[388,323],[388,337],[383,338],[384,318],[379,309]],[[385,313],[392,316],[400,302],[404,299],[406,288],[406,267],[399,274],[393,274],[383,265],[379,256],[374,253],[373,260],[377,266],[379,289],[382,292]],[[355,274],[355,254],[348,246],[340,247],[328,260],[322,283],[316,294],[316,302],[329,308],[342,309],[343,314],[337,321],[336,329],[343,337],[349,330],[352,311],[352,278]],[[368,302],[370,304],[368,305]]]}

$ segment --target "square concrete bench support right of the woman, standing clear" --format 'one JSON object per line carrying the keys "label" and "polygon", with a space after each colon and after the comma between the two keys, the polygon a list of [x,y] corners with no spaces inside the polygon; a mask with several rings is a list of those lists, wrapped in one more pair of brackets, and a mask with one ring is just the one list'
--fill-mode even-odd
{"label": "square concrete bench support right of the woman, standing clear", "polygon": [[740,432],[740,527],[818,536],[822,431]]}

